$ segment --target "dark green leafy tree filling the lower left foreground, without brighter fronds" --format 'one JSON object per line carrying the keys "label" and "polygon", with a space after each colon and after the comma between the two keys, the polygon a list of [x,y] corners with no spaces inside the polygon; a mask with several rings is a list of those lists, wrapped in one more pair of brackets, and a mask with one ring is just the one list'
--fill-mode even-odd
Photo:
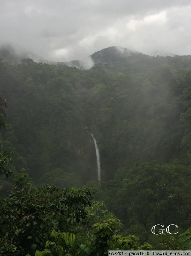
{"label": "dark green leafy tree filling the lower left foreground, without brighter fronds", "polygon": [[50,185],[36,189],[25,173],[17,175],[15,183],[8,198],[0,200],[0,253],[3,255],[32,253],[42,248],[51,230],[70,232],[86,224],[86,206],[91,205],[94,194],[91,189],[60,191]]}

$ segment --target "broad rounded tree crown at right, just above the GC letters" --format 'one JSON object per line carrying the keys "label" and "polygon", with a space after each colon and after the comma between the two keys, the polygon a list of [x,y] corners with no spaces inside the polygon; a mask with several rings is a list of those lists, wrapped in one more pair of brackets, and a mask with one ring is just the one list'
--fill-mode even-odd
{"label": "broad rounded tree crown at right, just above the GC letters", "polygon": [[[150,234],[155,223],[189,225],[191,174],[181,165],[156,162],[137,163],[122,182],[118,202],[123,204],[128,227],[144,226],[143,233]],[[137,229],[137,234],[140,231]],[[132,231],[132,230],[131,230]],[[135,232],[135,229],[134,229]],[[148,238],[147,238],[148,239]]]}

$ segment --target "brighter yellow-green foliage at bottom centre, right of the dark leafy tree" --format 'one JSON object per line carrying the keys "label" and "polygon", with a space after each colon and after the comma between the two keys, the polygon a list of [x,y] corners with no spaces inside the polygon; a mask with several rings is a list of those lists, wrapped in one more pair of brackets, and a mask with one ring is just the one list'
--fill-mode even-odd
{"label": "brighter yellow-green foliage at bottom centre, right of the dark leafy tree", "polygon": [[101,212],[103,218],[84,233],[85,237],[79,232],[75,236],[72,233],[58,233],[53,230],[51,240],[46,242],[45,250],[37,251],[35,256],[102,256],[107,255],[108,250],[153,250],[148,243],[140,245],[137,237],[133,235],[126,237],[118,235],[123,224],[110,212],[104,210]]}

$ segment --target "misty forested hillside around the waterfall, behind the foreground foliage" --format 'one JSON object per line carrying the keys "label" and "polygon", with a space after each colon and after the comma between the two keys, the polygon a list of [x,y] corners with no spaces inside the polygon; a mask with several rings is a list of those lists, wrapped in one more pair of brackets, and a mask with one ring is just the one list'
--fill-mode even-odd
{"label": "misty forested hillside around the waterfall, behind the foreground foliage", "polygon": [[[94,53],[89,70],[0,61],[11,125],[1,135],[4,149],[18,154],[14,172],[63,188],[97,186],[93,133],[97,197],[144,240],[152,224],[190,224],[191,56],[123,52]],[[1,178],[2,195],[11,186]]]}

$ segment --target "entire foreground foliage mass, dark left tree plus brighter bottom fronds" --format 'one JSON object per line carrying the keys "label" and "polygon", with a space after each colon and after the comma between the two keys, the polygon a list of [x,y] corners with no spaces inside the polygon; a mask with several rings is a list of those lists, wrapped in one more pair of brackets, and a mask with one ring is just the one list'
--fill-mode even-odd
{"label": "entire foreground foliage mass, dark left tree plus brighter bottom fronds", "polygon": [[2,255],[102,256],[108,250],[150,246],[140,246],[133,235],[121,236],[122,222],[103,209],[103,203],[92,200],[91,189],[59,190],[50,185],[37,189],[26,173],[14,182],[9,197],[0,200]]}

